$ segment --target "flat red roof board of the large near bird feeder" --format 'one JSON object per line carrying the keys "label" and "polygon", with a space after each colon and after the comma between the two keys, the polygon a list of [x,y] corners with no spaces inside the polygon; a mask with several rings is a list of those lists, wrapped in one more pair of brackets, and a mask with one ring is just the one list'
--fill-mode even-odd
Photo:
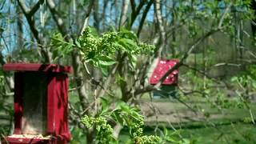
{"label": "flat red roof board of the large near bird feeder", "polygon": [[6,71],[44,71],[44,72],[65,72],[71,73],[73,70],[70,66],[60,66],[56,64],[39,64],[39,63],[8,63],[3,66]]}

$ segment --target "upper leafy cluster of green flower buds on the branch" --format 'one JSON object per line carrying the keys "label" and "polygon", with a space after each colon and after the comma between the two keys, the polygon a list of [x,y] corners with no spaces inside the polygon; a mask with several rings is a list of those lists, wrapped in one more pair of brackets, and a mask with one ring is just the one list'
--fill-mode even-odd
{"label": "upper leafy cluster of green flower buds on the branch", "polygon": [[[115,52],[120,50],[129,55],[152,54],[154,46],[146,43],[139,43],[138,38],[132,32],[106,32],[102,37],[94,34],[90,27],[87,27],[82,36],[76,41],[76,45],[80,50],[82,59],[92,62],[94,66],[98,66],[98,62],[104,62],[102,56],[110,58],[115,57]],[[131,57],[129,57],[131,58]]]}

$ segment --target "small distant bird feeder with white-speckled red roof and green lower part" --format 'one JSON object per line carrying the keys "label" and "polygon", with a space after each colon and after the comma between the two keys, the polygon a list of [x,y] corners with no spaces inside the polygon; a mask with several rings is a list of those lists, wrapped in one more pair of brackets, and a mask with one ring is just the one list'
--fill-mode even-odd
{"label": "small distant bird feeder with white-speckled red roof and green lower part", "polygon": [[[160,78],[168,70],[170,70],[172,67],[174,67],[178,63],[178,59],[159,59],[156,67],[154,68],[153,73],[150,77],[150,84],[156,85]],[[176,95],[176,87],[178,85],[178,70],[174,70],[172,73],[170,73],[166,79],[162,82],[161,90],[155,90],[153,92],[154,98],[162,98],[162,97],[169,97],[169,96],[175,96]]]}

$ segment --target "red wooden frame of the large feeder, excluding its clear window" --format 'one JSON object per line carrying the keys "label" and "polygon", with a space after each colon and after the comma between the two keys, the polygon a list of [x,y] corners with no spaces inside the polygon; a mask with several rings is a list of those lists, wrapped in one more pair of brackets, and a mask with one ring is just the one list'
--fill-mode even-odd
{"label": "red wooden frame of the large feeder, excluding its clear window", "polygon": [[[4,70],[14,70],[14,134],[22,134],[22,86],[28,81],[23,78],[26,71],[40,72],[47,77],[46,91],[46,132],[51,135],[49,141],[40,138],[13,138],[11,136],[2,140],[2,143],[46,143],[66,144],[71,135],[68,128],[68,76],[70,66],[41,65],[41,64],[6,64]],[[44,73],[42,73],[44,72]],[[64,73],[65,72],[65,73]],[[33,88],[33,86],[31,86]],[[32,140],[32,141],[31,141]],[[7,142],[6,142],[7,141]]]}

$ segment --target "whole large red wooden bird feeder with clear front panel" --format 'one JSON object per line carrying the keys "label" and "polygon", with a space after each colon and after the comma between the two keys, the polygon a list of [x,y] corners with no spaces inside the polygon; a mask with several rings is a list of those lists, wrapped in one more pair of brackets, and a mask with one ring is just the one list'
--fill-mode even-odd
{"label": "whole large red wooden bird feeder with clear front panel", "polygon": [[72,68],[14,63],[4,65],[3,70],[15,73],[14,135],[3,138],[2,143],[66,144],[70,141],[66,73],[70,73]]}

